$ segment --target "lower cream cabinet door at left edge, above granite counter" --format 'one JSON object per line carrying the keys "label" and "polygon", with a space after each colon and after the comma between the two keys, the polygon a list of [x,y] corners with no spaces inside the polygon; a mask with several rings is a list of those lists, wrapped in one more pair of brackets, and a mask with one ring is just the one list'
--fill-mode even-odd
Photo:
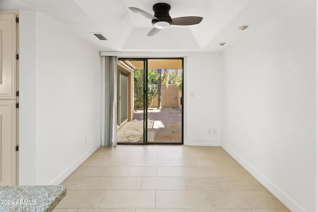
{"label": "lower cream cabinet door at left edge, above granite counter", "polygon": [[0,186],[15,185],[15,100],[0,100]]}

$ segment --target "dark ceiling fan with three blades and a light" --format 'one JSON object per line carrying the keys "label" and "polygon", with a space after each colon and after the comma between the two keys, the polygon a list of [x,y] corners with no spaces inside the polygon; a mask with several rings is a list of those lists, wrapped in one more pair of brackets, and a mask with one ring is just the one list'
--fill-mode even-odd
{"label": "dark ceiling fan with three blades and a light", "polygon": [[167,3],[156,3],[153,6],[155,15],[152,15],[140,8],[129,7],[133,12],[139,13],[146,18],[152,19],[154,28],[150,30],[147,36],[156,35],[161,29],[168,28],[170,25],[194,25],[202,21],[203,17],[198,16],[185,16],[178,18],[171,18],[169,15],[170,5]]}

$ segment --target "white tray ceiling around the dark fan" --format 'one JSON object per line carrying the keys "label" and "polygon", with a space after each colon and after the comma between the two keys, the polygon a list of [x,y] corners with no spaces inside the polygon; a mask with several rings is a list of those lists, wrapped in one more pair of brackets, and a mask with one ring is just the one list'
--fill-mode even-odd
{"label": "white tray ceiling around the dark fan", "polygon": [[[138,7],[154,14],[153,5],[171,5],[172,18],[202,16],[200,24],[175,26],[153,37],[151,20],[132,12]],[[301,0],[0,0],[0,10],[47,13],[100,51],[223,52],[239,40],[284,14]],[[244,31],[241,25],[249,25]],[[108,41],[92,33],[102,33]],[[226,42],[225,46],[219,43]]]}

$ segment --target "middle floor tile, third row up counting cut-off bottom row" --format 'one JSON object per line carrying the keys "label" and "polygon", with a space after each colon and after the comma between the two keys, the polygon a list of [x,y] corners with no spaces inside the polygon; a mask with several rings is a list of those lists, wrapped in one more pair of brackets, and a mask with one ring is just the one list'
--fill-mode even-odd
{"label": "middle floor tile, third row up counting cut-off bottom row", "polygon": [[188,190],[184,177],[143,177],[142,190]]}

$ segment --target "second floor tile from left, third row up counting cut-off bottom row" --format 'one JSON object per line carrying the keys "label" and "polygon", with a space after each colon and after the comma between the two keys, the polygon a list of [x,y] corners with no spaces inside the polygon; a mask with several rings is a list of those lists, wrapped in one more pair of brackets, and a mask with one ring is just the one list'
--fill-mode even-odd
{"label": "second floor tile from left, third row up counting cut-off bottom row", "polygon": [[142,177],[101,177],[95,190],[140,190]]}

